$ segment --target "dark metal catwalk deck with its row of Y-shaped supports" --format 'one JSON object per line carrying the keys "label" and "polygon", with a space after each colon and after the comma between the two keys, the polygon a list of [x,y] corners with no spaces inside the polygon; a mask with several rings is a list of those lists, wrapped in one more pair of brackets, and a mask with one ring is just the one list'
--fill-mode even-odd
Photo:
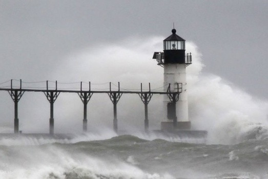
{"label": "dark metal catwalk deck with its row of Y-shaped supports", "polygon": [[[6,82],[5,82],[6,83]],[[61,92],[69,92],[69,93],[78,93],[80,96],[83,104],[84,104],[84,118],[83,118],[83,131],[87,131],[87,104],[92,96],[93,93],[107,93],[110,97],[110,100],[113,103],[113,112],[114,112],[114,120],[113,120],[113,126],[114,130],[117,132],[118,126],[117,126],[117,103],[123,93],[128,94],[139,94],[143,104],[145,104],[145,130],[148,131],[149,129],[149,119],[148,119],[148,104],[151,100],[151,97],[153,94],[167,94],[170,101],[175,103],[179,99],[179,94],[182,92],[182,84],[177,84],[177,90],[171,91],[170,85],[167,91],[151,91],[150,83],[149,83],[149,91],[142,91],[142,84],[141,84],[141,90],[140,91],[129,91],[126,89],[123,89],[123,91],[120,90],[120,84],[118,82],[118,91],[112,91],[111,90],[111,83],[110,83],[110,90],[109,91],[102,91],[102,90],[95,90],[91,91],[90,82],[89,82],[89,90],[82,90],[82,86],[80,86],[80,90],[58,90],[57,89],[57,81],[56,81],[56,88],[55,89],[49,89],[48,88],[48,81],[47,81],[47,89],[23,89],[22,88],[22,80],[20,79],[20,86],[19,88],[13,88],[12,87],[12,79],[11,79],[11,85],[10,88],[1,88],[0,91],[8,91],[10,96],[12,97],[12,100],[14,101],[14,133],[18,133],[19,127],[18,127],[18,101],[20,100],[20,97],[24,94],[25,91],[29,92],[44,92],[48,101],[50,102],[50,134],[54,134],[54,102],[56,98],[58,97],[59,93]],[[174,118],[174,125],[177,121],[176,118]]]}

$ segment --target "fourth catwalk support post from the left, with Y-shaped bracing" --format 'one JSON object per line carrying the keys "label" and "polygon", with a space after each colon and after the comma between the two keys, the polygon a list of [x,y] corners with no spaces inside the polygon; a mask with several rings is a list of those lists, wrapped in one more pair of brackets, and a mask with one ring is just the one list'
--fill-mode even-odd
{"label": "fourth catwalk support post from the left, with Y-shaped bracing", "polygon": [[118,91],[113,92],[111,91],[111,83],[110,83],[110,93],[108,93],[110,100],[113,103],[114,106],[114,120],[113,120],[113,128],[114,131],[117,133],[118,126],[117,126],[117,103],[120,100],[120,97],[122,96],[122,93],[120,92],[120,84],[118,82]]}

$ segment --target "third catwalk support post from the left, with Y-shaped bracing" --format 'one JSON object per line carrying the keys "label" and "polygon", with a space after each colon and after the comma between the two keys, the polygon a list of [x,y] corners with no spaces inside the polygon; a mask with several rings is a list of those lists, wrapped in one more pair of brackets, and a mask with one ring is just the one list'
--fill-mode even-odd
{"label": "third catwalk support post from the left, with Y-shaped bracing", "polygon": [[81,101],[84,104],[83,132],[87,132],[88,131],[87,105],[88,105],[88,102],[93,94],[92,92],[90,92],[90,82],[89,82],[89,91],[82,92],[82,82],[80,84],[80,90],[81,90],[81,92],[79,92],[77,94],[79,95]]}

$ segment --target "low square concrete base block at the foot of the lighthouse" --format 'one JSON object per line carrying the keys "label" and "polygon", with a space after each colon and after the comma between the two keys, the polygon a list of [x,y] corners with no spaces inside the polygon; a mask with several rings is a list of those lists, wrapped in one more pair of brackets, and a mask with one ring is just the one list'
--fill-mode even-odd
{"label": "low square concrete base block at the foot of the lighthouse", "polygon": [[161,122],[161,131],[173,131],[173,130],[189,130],[191,129],[190,121],[177,122],[176,127],[174,127],[173,122]]}

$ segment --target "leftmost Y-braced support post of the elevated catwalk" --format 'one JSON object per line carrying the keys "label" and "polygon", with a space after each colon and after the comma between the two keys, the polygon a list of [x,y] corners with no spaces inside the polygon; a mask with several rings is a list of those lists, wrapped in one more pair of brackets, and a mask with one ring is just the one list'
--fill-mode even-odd
{"label": "leftmost Y-braced support post of the elevated catwalk", "polygon": [[20,79],[20,89],[12,90],[12,79],[11,79],[11,90],[8,91],[13,102],[14,102],[14,133],[18,133],[18,102],[20,98],[23,96],[25,91],[21,91],[22,89],[22,80]]}

